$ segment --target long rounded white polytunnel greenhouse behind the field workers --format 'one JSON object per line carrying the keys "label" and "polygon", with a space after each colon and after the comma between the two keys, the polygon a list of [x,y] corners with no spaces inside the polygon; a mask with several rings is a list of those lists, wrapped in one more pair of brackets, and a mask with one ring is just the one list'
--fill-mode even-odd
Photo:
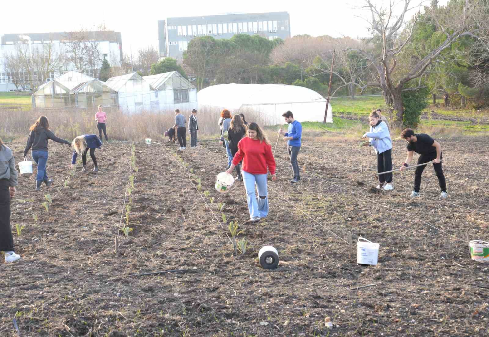
{"label": "long rounded white polytunnel greenhouse behind the field workers", "polygon": [[[282,114],[292,111],[300,122],[323,122],[326,99],[314,90],[286,84],[218,84],[198,93],[200,110],[227,108],[244,113],[247,121],[261,125],[283,123]],[[333,123],[331,105],[327,123]]]}

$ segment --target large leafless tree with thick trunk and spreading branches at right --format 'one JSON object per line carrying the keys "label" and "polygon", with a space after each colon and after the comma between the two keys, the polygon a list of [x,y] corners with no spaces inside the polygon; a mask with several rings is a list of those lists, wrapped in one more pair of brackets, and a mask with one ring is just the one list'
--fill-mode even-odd
{"label": "large leafless tree with thick trunk and spreading branches at right", "polygon": [[[376,86],[382,90],[389,113],[395,112],[397,123],[403,119],[403,106],[401,92],[414,90],[405,88],[405,85],[414,79],[421,79],[422,75],[440,54],[452,43],[461,37],[472,36],[477,39],[486,38],[488,25],[487,0],[453,1],[442,9],[424,7],[425,14],[433,19],[436,30],[443,34],[444,40],[437,46],[427,50],[424,56],[409,60],[403,59],[402,53],[412,42],[412,33],[417,21],[422,18],[416,15],[411,21],[405,16],[410,11],[412,0],[390,0],[386,8],[375,5],[372,0],[364,0],[360,8],[369,13],[367,20],[374,33],[373,44],[379,47],[355,50],[371,64],[372,79],[362,85],[362,88]],[[395,15],[401,6],[400,14]],[[415,6],[420,8],[420,6]]]}

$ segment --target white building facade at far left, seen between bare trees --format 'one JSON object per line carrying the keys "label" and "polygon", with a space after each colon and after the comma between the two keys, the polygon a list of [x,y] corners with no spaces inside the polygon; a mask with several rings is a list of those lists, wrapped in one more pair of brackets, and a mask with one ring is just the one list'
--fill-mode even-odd
{"label": "white building facade at far left, seen between bare trees", "polygon": [[[77,39],[79,38],[79,39]],[[33,33],[33,34],[5,34],[1,37],[0,44],[0,91],[12,91],[17,89],[30,89],[30,83],[42,84],[45,81],[51,81],[55,77],[66,73],[70,70],[76,70],[73,63],[73,54],[70,52],[70,41],[82,45],[96,46],[99,52],[100,63],[95,69],[87,69],[86,74],[91,77],[98,77],[98,70],[101,67],[101,61],[106,58],[111,65],[120,65],[122,60],[122,37],[120,32],[114,31],[94,31],[94,32],[71,32],[71,33]],[[6,56],[16,55],[21,48],[27,55],[33,55],[36,51],[42,51],[49,46],[52,52],[57,56],[61,55],[53,71],[41,74],[32,65],[32,71],[29,75],[25,71],[19,71],[17,78],[21,79],[22,86],[16,87],[12,74],[6,64]],[[83,60],[78,59],[77,63]],[[32,63],[32,61],[31,61]],[[39,67],[38,67],[39,68]],[[17,70],[16,70],[17,71]],[[30,78],[29,78],[30,76]],[[18,81],[17,81],[18,82]]]}

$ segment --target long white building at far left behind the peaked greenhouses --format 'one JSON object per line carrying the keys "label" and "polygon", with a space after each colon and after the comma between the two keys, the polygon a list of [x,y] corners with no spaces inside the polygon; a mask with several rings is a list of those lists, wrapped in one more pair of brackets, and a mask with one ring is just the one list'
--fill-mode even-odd
{"label": "long white building at far left behind the peaked greenhouses", "polygon": [[[45,61],[48,52],[52,60],[49,65]],[[96,53],[98,59],[93,57]],[[7,62],[8,58],[23,63],[14,66]],[[0,45],[0,91],[32,89],[31,84],[43,84],[70,70],[84,71],[96,78],[104,58],[111,65],[121,64],[120,32],[5,34]],[[45,72],[46,68],[50,70]]]}

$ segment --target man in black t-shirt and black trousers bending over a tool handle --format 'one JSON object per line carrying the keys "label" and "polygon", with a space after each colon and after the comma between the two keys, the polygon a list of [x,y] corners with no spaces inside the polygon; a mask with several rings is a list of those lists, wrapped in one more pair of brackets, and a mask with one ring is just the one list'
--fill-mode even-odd
{"label": "man in black t-shirt and black trousers bending over a tool handle", "polygon": [[[413,160],[414,152],[420,154],[418,164],[433,161],[433,168],[435,169],[438,183],[442,190],[440,197],[446,198],[448,194],[446,193],[445,175],[442,170],[442,146],[440,143],[425,133],[415,134],[412,129],[404,129],[400,136],[407,142],[407,158],[404,164],[400,167],[400,170],[402,171],[408,167],[408,164]],[[425,167],[426,165],[422,165],[416,168],[414,174],[414,190],[411,193],[411,197],[420,195],[421,175]]]}

